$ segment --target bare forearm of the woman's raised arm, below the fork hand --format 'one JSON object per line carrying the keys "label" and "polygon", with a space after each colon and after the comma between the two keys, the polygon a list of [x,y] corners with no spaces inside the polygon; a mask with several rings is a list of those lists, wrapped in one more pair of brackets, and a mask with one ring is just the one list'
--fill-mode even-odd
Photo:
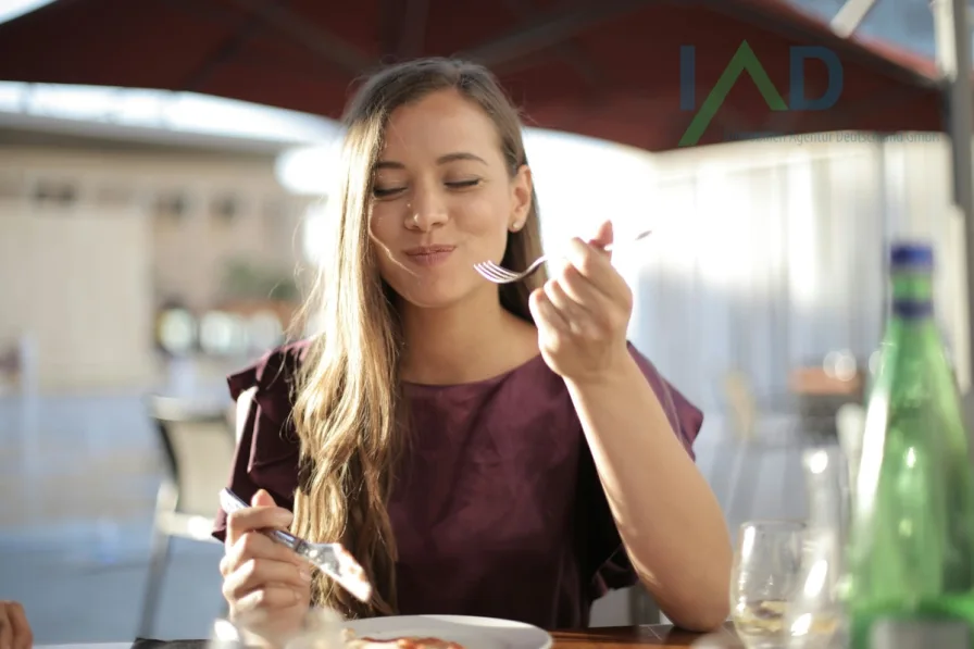
{"label": "bare forearm of the woman's raised arm, below the fork hand", "polygon": [[566,380],[626,550],[675,623],[726,619],[732,551],[720,506],[636,361]]}

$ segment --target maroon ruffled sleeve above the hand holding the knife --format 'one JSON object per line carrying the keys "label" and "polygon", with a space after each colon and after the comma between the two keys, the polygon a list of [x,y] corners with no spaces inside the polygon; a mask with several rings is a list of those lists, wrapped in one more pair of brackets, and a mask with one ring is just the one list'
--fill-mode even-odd
{"label": "maroon ruffled sleeve above the hand holding the knife", "polygon": [[[252,391],[227,486],[250,501],[265,489],[274,501],[294,510],[300,446],[291,420],[295,378],[308,351],[302,340],[266,353],[257,363],[227,377],[230,397]],[[213,536],[224,540],[226,512],[216,512]]]}

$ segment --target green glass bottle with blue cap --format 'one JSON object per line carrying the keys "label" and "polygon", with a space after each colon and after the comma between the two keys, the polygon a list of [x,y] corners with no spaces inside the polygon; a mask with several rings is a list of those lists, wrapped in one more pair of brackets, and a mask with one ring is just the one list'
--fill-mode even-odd
{"label": "green glass bottle with blue cap", "polygon": [[890,272],[852,502],[850,647],[892,646],[890,629],[910,625],[974,647],[974,472],[934,320],[933,250],[895,246]]}

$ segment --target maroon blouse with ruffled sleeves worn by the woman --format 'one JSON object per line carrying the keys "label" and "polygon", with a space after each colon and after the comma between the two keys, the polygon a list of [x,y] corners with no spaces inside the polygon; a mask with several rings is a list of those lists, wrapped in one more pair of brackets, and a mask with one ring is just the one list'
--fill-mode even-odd
{"label": "maroon blouse with ruffled sleeves worn by the woman", "polygon": [[[247,500],[264,488],[294,507],[299,445],[288,414],[307,349],[282,347],[228,378],[234,399],[258,388],[229,480]],[[701,412],[629,351],[692,455]],[[567,388],[540,355],[476,383],[407,383],[404,394],[416,437],[388,503],[400,613],[583,627],[595,599],[637,582]],[[213,534],[225,529],[220,511]]]}

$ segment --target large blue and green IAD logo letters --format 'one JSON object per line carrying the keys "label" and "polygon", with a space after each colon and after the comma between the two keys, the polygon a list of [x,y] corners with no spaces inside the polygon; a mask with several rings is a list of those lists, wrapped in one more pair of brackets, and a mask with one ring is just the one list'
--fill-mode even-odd
{"label": "large blue and green IAD logo letters", "polygon": [[[825,92],[821,97],[814,99],[809,99],[804,93],[804,62],[808,59],[822,61],[828,71],[828,87],[825,88]],[[685,45],[679,48],[679,109],[684,111],[697,109],[696,62],[697,48],[695,46]],[[761,97],[767,103],[767,108],[773,111],[824,111],[835,105],[842,92],[842,64],[835,52],[822,46],[792,46],[789,48],[788,65],[790,103],[786,102],[778,89],[775,88],[748,41],[742,41],[730,62],[727,63],[727,67],[721,73],[717,83],[710,90],[710,95],[700,104],[700,110],[694,115],[690,125],[687,126],[679,139],[679,146],[691,147],[700,140],[711,120],[727,98],[730,88],[744,72],[750,75],[751,80],[758,86]]]}

